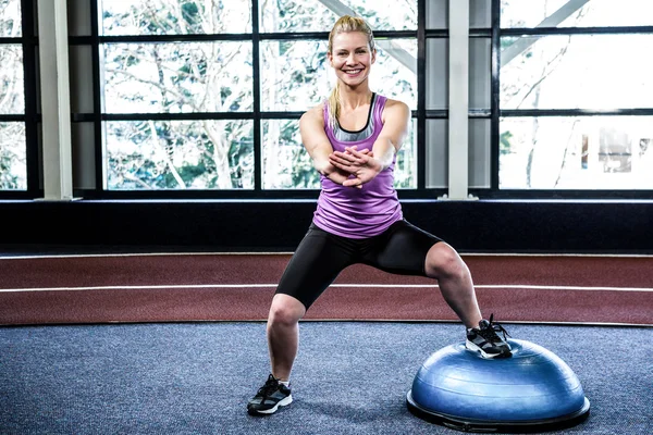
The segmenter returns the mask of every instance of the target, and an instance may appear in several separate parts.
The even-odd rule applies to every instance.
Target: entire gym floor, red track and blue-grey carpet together
[[[1,433],[456,433],[412,415],[430,355],[464,339],[436,283],[347,269],[300,323],[294,403],[251,418],[289,253],[0,258]],[[591,402],[565,433],[653,427],[652,257],[464,254],[485,315],[564,360]],[[247,271],[247,273],[243,273]],[[643,381],[643,382],[642,382]]]

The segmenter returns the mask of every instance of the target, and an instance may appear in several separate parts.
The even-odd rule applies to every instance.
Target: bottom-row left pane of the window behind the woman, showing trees
[[[109,190],[254,186],[250,120],[111,121],[104,132]]]

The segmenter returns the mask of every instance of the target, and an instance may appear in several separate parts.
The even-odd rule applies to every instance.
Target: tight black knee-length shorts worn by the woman
[[[278,294],[293,296],[308,308],[348,265],[362,263],[401,275],[426,276],[427,252],[442,239],[406,221],[378,236],[336,236],[311,224],[283,273]]]

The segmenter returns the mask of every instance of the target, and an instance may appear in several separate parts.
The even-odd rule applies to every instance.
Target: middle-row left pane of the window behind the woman
[[[251,42],[103,46],[106,113],[251,112]]]

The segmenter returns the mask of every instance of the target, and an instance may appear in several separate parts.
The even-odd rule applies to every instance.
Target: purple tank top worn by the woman
[[[381,114],[387,99],[373,95],[368,124],[360,132],[347,132],[340,124],[329,127],[329,104],[324,103],[324,132],[334,151],[358,146],[359,150],[372,149],[383,128]],[[361,189],[343,187],[325,176],[320,176],[322,190],[313,214],[319,228],[348,238],[367,238],[383,233],[390,225],[403,219],[402,206],[394,188],[394,165],[378,174]]]

